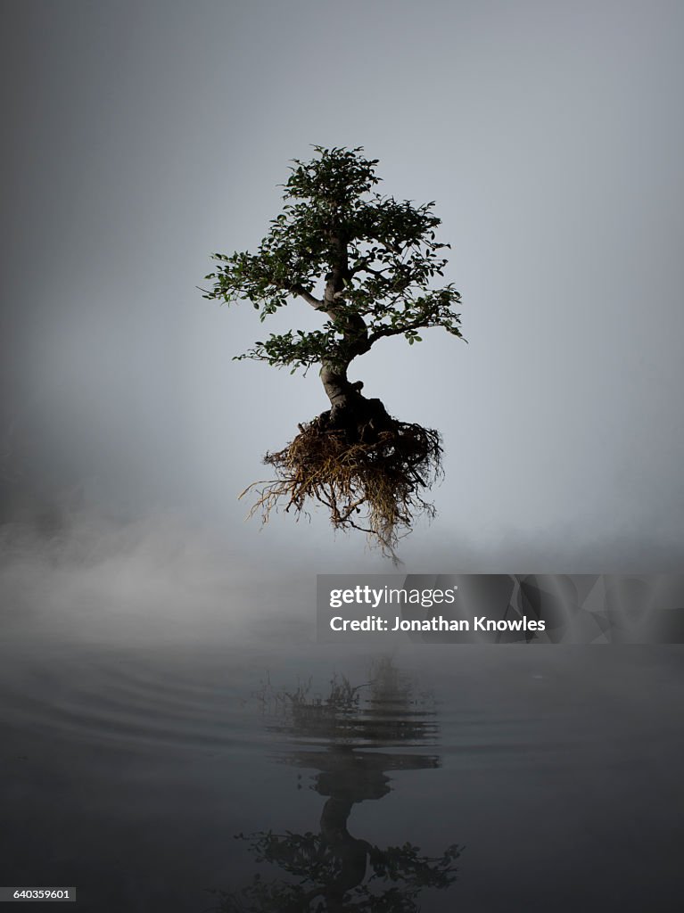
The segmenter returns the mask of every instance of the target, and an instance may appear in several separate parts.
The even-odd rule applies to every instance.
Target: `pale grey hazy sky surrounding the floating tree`
[[[324,518],[242,525],[260,456],[326,402],[314,373],[231,362],[265,330],[195,286],[211,251],[256,246],[289,159],[363,145],[382,190],[437,201],[468,338],[354,366],[445,438],[439,517],[405,556],[681,557],[680,4],[3,10],[5,488],[83,482],[95,507],[211,516],[255,556],[356,561]]]

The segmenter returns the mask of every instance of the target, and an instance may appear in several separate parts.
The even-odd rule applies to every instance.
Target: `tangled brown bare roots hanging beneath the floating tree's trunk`
[[[310,500],[330,510],[335,529],[368,533],[369,540],[396,559],[395,547],[420,514],[434,517],[422,497],[442,474],[442,446],[437,431],[390,419],[371,443],[349,443],[340,430],[325,429],[320,419],[300,425],[285,449],[267,454],[264,463],[277,478],[253,482],[258,493],[249,517],[271,510],[294,509],[299,515]]]

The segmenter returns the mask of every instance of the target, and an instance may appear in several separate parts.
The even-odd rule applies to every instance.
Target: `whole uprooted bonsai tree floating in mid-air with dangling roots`
[[[256,253],[214,254],[216,271],[205,298],[247,300],[260,320],[302,299],[321,315],[321,328],[272,333],[237,359],[256,359],[291,372],[317,366],[330,408],[299,425],[288,446],[264,462],[276,478],[253,483],[252,509],[320,502],[336,528],[369,533],[395,556],[398,538],[417,513],[434,514],[423,492],[441,472],[437,431],[399,421],[379,399],[363,395],[350,366],[375,343],[442,327],[458,338],[460,302],[443,277],[448,245],[437,242],[434,203],[414,205],[374,191],[377,160],[363,148],[314,147],[310,162],[295,159],[282,212]],[[243,492],[245,494],[246,492]]]

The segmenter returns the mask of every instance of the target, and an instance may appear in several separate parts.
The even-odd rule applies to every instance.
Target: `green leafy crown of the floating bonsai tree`
[[[295,297],[321,311],[320,331],[271,335],[238,358],[292,370],[330,359],[348,364],[374,342],[442,327],[461,337],[452,283],[444,276],[449,247],[436,240],[434,203],[414,205],[374,191],[377,160],[363,149],[323,149],[308,163],[295,159],[285,204],[256,253],[215,254],[205,298],[246,300],[260,320]]]

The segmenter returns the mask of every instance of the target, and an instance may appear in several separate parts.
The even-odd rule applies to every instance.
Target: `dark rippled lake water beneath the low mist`
[[[680,647],[388,654],[316,644],[310,579],[240,584],[230,624],[236,589],[51,574],[5,577],[0,884],[105,913],[678,908]]]

